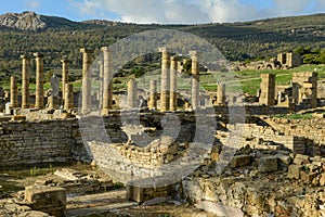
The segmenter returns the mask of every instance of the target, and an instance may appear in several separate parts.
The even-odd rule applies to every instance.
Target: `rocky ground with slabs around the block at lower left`
[[[167,199],[156,200],[148,205],[139,205],[126,199],[126,189],[109,177],[89,165],[55,165],[52,168],[15,168],[0,171],[1,217],[46,217],[44,213],[31,210],[23,202],[24,188],[30,184],[61,186],[67,189],[67,216],[180,216],[210,217],[207,212],[187,203]]]

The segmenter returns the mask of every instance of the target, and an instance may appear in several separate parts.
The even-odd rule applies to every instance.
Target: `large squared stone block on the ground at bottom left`
[[[35,210],[52,216],[66,215],[66,190],[58,187],[29,186],[25,189],[25,201]]]

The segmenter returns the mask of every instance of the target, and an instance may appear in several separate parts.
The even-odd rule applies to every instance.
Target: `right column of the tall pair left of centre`
[[[103,82],[103,110],[105,115],[112,110],[113,102],[113,69],[112,69],[112,53],[108,47],[103,47],[104,53],[104,82]]]

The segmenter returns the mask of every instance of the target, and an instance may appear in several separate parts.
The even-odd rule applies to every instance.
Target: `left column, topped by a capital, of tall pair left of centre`
[[[82,101],[81,113],[86,114],[91,111],[91,54],[92,49],[80,49],[82,53]]]

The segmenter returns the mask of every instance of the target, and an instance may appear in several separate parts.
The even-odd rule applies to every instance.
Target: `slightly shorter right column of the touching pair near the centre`
[[[177,111],[178,60],[170,59],[170,111]]]

